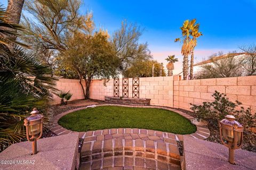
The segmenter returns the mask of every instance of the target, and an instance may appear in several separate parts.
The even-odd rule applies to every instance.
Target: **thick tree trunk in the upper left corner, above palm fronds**
[[[6,9],[6,13],[9,16],[9,21],[11,23],[19,24],[22,7],[24,4],[24,0],[8,0],[8,6]],[[13,29],[10,29],[13,31]],[[17,31],[17,30],[14,30]],[[17,36],[10,37],[13,40],[16,40]]]

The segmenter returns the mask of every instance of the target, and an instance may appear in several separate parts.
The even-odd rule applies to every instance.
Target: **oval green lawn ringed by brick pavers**
[[[58,122],[63,128],[86,132],[112,128],[151,129],[190,134],[196,126],[178,113],[158,108],[98,106],[69,113]]]

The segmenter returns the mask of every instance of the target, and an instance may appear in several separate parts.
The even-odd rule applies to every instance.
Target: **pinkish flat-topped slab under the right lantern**
[[[219,144],[191,137],[184,137],[186,170],[256,169],[256,153],[235,150],[236,165],[228,162],[228,148]]]

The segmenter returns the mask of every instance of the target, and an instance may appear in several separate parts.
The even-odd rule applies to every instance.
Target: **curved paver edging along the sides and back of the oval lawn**
[[[181,116],[187,118],[190,121],[193,120],[193,118],[194,118],[194,117],[192,117],[192,116],[190,116],[190,115],[188,115],[188,114],[186,114],[184,112],[178,111],[177,109],[173,109],[173,108],[169,108],[169,107],[162,107],[162,106],[130,106],[130,105],[118,105],[118,104],[102,104],[102,105],[97,105],[97,107],[98,106],[123,106],[123,107],[140,107],[140,108],[160,108],[160,109],[166,109],[166,110],[178,113],[178,114],[180,114]],[[62,126],[60,126],[58,124],[59,119],[62,116],[65,116],[65,115],[67,115],[69,113],[80,111],[80,110],[85,109],[85,108],[86,107],[72,109],[70,111],[62,112],[62,113],[58,114],[57,116],[55,116],[53,118],[53,120],[52,120],[52,124],[53,125],[52,125],[52,128],[51,128],[51,131],[54,132],[57,135],[72,133],[73,131],[67,130],[67,129],[63,128]],[[195,125],[195,126],[196,126],[196,129],[197,129],[197,131],[195,133],[185,134],[185,135],[189,136],[189,137],[196,138],[196,139],[202,139],[202,140],[205,140],[205,139],[207,139],[210,136],[210,131],[207,128],[207,126],[198,126],[198,125]],[[182,135],[178,135],[178,138],[179,138],[178,140],[183,140]]]

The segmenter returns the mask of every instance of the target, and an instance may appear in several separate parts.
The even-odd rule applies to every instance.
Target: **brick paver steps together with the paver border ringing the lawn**
[[[97,105],[162,108],[178,113],[189,120],[194,117],[172,108],[160,106],[127,106],[127,105]],[[54,117],[53,128],[58,135],[73,133],[58,125],[60,117],[83,108],[63,112]],[[77,133],[77,132],[75,132]],[[197,131],[186,136],[206,139],[210,131],[206,126],[197,126]],[[81,150],[80,169],[102,169],[117,167],[120,169],[180,169],[180,156],[177,141],[183,140],[183,135],[146,129],[105,129],[79,132],[84,139]]]

